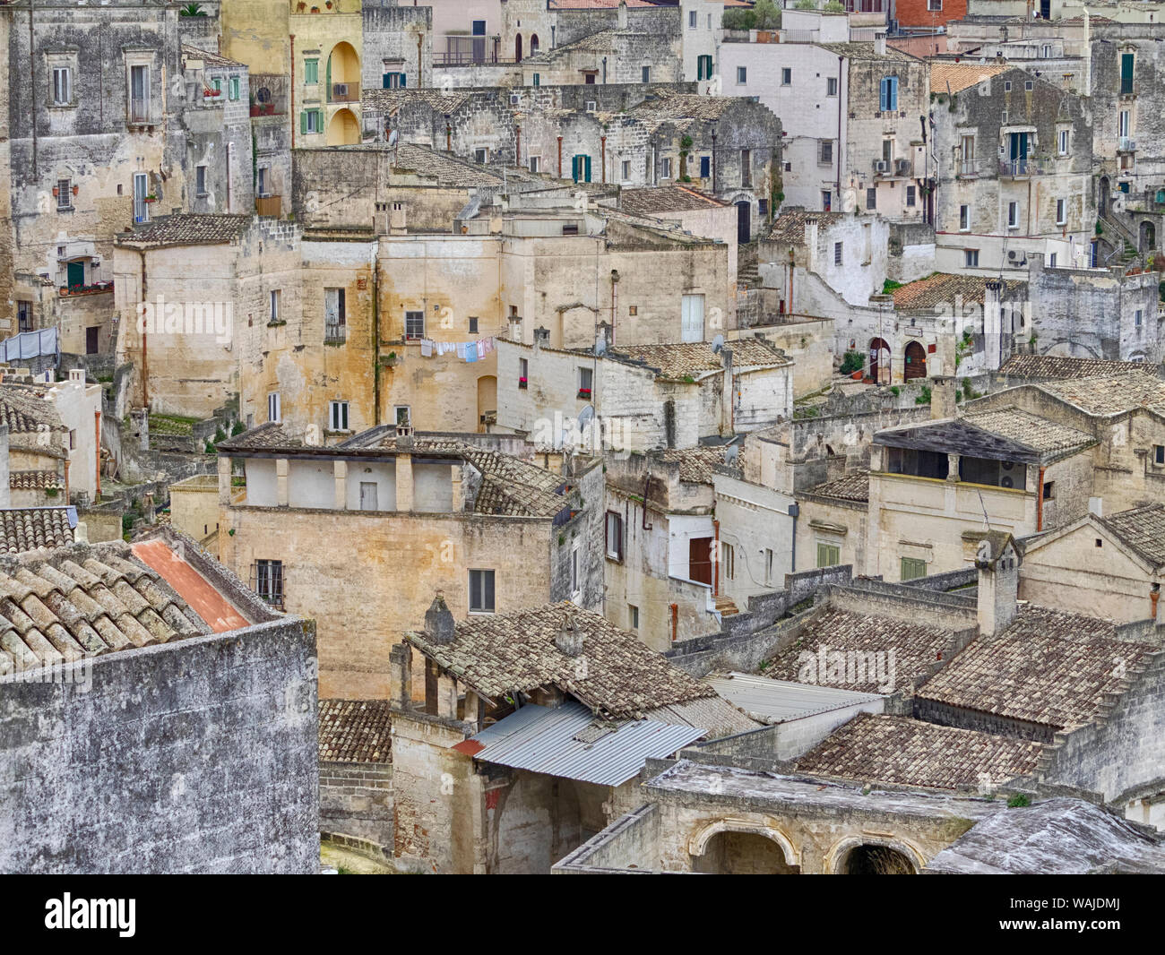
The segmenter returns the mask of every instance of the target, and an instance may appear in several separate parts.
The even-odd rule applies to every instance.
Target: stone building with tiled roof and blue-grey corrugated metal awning
[[[395,857],[548,872],[641,801],[645,758],[756,723],[598,614],[556,603],[454,624],[442,595],[393,651]],[[424,666],[424,706],[409,650]]]

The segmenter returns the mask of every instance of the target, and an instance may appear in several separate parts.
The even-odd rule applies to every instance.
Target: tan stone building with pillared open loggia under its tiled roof
[[[324,699],[387,698],[389,650],[435,588],[458,618],[602,599],[598,460],[553,472],[518,439],[384,426],[326,447],[266,424],[218,448],[220,559],[316,615]]]

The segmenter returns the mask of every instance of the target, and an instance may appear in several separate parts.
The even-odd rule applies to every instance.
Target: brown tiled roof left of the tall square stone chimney
[[[867,667],[867,679],[852,679],[862,675],[856,666],[850,667],[854,672],[835,673],[826,658],[826,666],[819,667],[821,650],[826,655],[863,653],[867,655],[862,658],[866,660],[870,659],[870,653],[884,653],[887,656],[880,659],[885,662],[882,666],[887,671],[888,655],[894,651],[894,689],[902,689],[915,678],[927,674],[930,667],[947,655],[953,636],[951,630],[941,627],[826,607],[807,621],[797,639],[771,657],[761,672],[774,680],[835,686],[859,693],[885,693],[888,688],[884,680],[888,673],[875,674],[871,672],[873,667]],[[853,659],[856,664],[857,657]],[[819,670],[824,672],[818,672]],[[806,674],[812,674],[813,679],[805,679]]]

